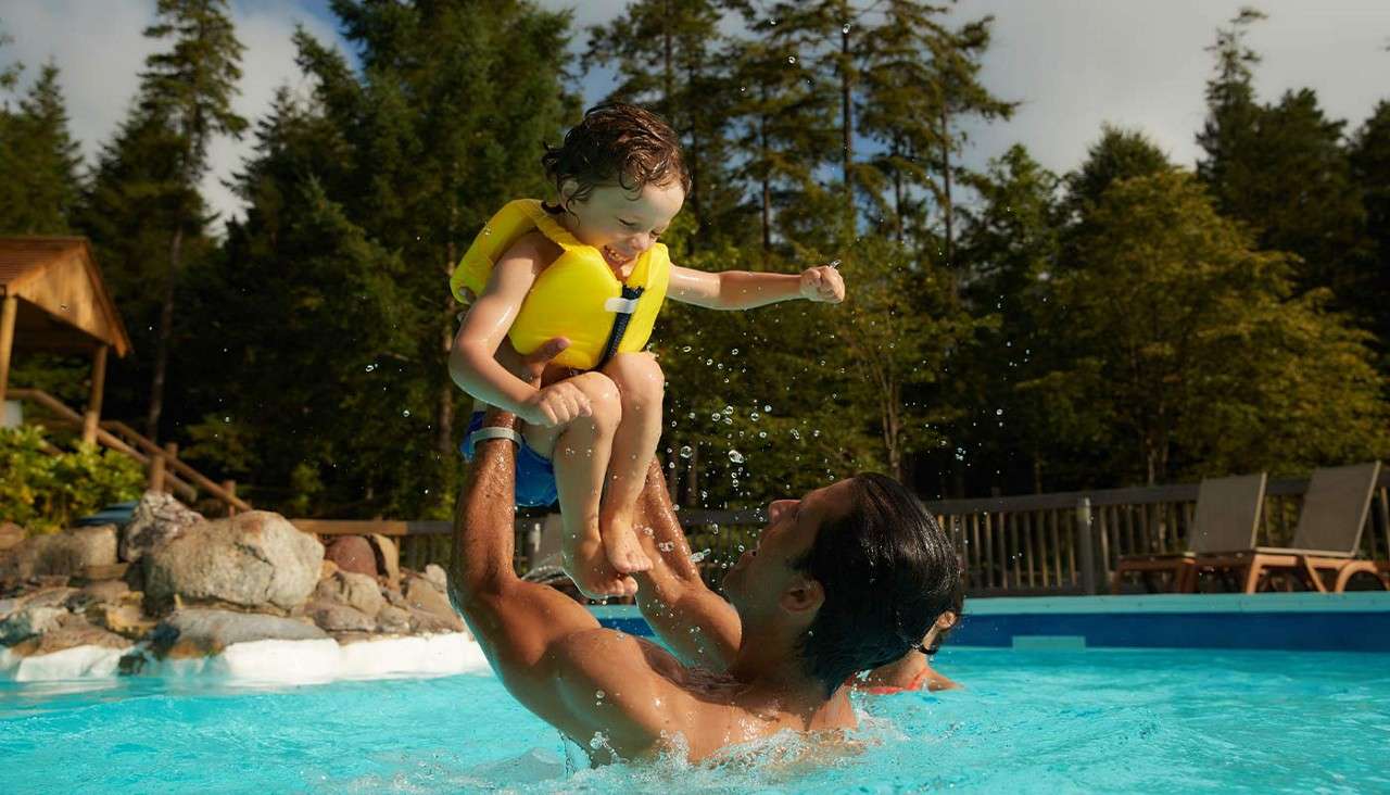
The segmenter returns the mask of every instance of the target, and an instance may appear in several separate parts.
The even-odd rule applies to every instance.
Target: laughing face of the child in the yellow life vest
[[[594,246],[610,267],[620,268],[656,243],[684,203],[678,182],[644,185],[637,193],[602,185],[588,199],[570,202],[566,224],[581,243]]]

